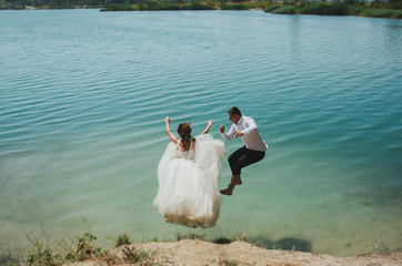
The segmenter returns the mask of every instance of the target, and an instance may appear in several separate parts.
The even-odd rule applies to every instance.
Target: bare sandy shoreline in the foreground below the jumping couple
[[[142,250],[149,258],[133,263],[123,259],[123,248]],[[111,258],[115,258],[112,260]],[[283,252],[264,249],[245,242],[214,244],[200,239],[180,242],[152,242],[134,244],[129,247],[118,247],[109,252],[109,258],[72,263],[66,265],[353,265],[353,266],[400,266],[402,253],[389,255],[363,254],[356,257],[334,257],[301,252]]]

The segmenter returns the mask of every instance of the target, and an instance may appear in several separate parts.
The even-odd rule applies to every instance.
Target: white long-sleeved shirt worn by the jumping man
[[[253,151],[264,152],[268,150],[267,143],[261,139],[255,121],[252,117],[242,115],[238,124],[232,124],[228,133],[221,133],[222,137],[230,141],[234,133],[240,131],[243,133],[241,139],[245,143],[245,147]]]

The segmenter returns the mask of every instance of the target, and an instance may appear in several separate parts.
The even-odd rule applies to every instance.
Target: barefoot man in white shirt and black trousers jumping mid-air
[[[234,186],[241,185],[241,168],[261,161],[265,156],[268,145],[261,139],[257,124],[252,117],[242,115],[238,108],[231,108],[228,111],[229,120],[233,122],[229,132],[224,132],[224,125],[219,127],[222,137],[230,141],[233,135],[241,136],[244,146],[232,153],[228,161],[232,170],[232,180],[227,190],[222,190],[223,195],[232,195]]]

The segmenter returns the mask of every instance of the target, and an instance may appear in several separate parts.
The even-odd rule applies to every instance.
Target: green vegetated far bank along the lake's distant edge
[[[250,10],[275,14],[363,16],[372,18],[402,18],[402,0],[344,0],[343,2],[283,2],[242,0],[0,0],[0,9],[72,9],[100,8],[100,11],[155,10]]]

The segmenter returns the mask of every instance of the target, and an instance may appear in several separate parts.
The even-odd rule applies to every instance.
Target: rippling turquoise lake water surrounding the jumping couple
[[[87,223],[108,247],[247,234],[267,247],[402,250],[402,20],[262,11],[0,11],[0,256]],[[270,145],[209,229],[152,206],[172,127],[227,110]],[[225,142],[228,154],[242,145]],[[229,183],[225,155],[221,187]]]

